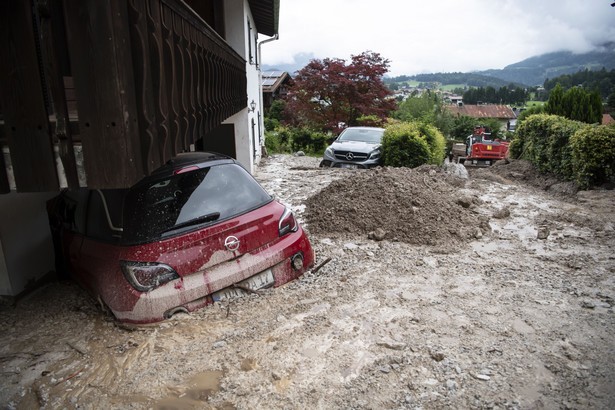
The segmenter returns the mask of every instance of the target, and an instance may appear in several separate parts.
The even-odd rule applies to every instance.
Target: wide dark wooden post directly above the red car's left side
[[[64,7],[89,188],[125,188],[146,175],[124,0]]]

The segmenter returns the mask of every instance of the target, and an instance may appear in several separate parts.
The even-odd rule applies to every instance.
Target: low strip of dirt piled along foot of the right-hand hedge
[[[523,183],[564,197],[572,197],[579,190],[576,183],[564,181],[553,174],[540,173],[534,164],[524,160],[498,161],[489,168],[472,169],[470,172],[473,178],[499,183]]]

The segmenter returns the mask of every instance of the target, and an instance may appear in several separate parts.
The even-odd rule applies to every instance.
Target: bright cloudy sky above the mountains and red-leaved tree
[[[364,51],[388,76],[501,69],[554,51],[615,41],[613,0],[280,0],[279,40],[266,67]],[[259,37],[259,41],[267,37]]]

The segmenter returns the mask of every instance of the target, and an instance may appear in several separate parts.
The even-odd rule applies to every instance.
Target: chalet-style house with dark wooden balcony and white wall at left
[[[36,5],[36,7],[34,7]],[[46,201],[212,150],[253,171],[279,0],[0,2],[0,296],[54,269]]]

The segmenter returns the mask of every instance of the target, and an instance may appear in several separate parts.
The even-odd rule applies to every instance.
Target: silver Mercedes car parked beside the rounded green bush
[[[348,127],[325,151],[321,167],[372,168],[380,165],[384,128]]]

